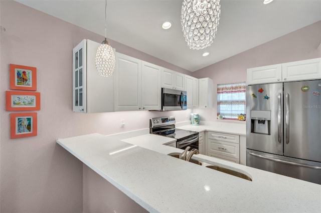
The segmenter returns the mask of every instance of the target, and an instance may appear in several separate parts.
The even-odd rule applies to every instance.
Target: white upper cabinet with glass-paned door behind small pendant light
[[[99,45],[84,39],[73,48],[73,111],[114,111],[114,76],[100,76],[95,64]]]

